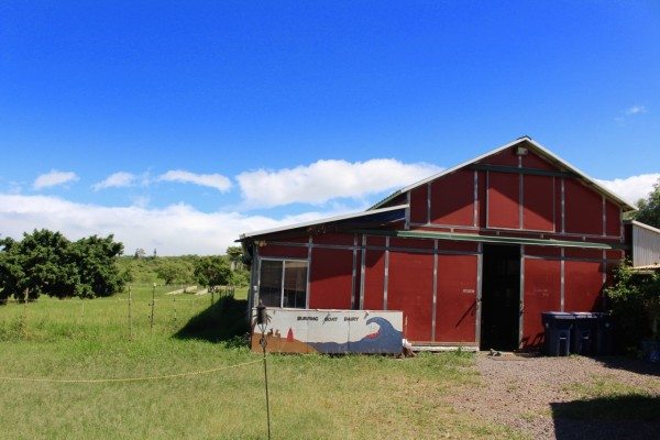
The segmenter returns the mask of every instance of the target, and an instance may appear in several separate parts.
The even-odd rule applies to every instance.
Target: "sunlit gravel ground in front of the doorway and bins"
[[[451,397],[457,409],[507,425],[534,439],[660,439],[660,414],[653,421],[554,418],[552,408],[580,400],[574,384],[605,378],[622,387],[646,389],[660,398],[660,365],[636,360],[582,356],[522,358],[476,355],[483,385]]]

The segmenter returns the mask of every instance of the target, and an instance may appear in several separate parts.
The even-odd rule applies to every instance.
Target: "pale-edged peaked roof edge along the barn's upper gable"
[[[613,200],[616,200],[619,205],[622,205],[627,211],[634,211],[637,208],[635,208],[630,202],[626,201],[625,199],[623,199],[622,197],[617,196],[616,194],[612,193],[609,189],[605,188],[604,186],[602,186],[601,184],[598,184],[597,180],[595,180],[594,178],[590,177],[586,173],[582,172],[581,169],[574,167],[573,165],[569,164],[566,161],[564,161],[563,158],[559,157],[557,154],[550,152],[548,148],[546,148],[544,146],[542,146],[541,144],[539,144],[538,142],[536,142],[535,140],[532,140],[529,136],[522,136],[522,138],[518,138],[513,142],[509,142],[505,145],[498,146],[495,150],[492,150],[487,153],[484,153],[480,156],[476,156],[468,162],[463,162],[460,165],[457,165],[454,167],[444,169],[440,173],[437,173],[430,177],[427,177],[425,179],[421,179],[413,185],[409,185],[405,188],[402,188],[395,193],[393,193],[392,195],[389,195],[388,197],[386,197],[385,199],[378,201],[376,205],[374,205],[373,207],[371,207],[370,209],[377,209],[378,207],[383,206],[384,204],[386,204],[387,201],[392,200],[394,197],[407,193],[410,189],[415,189],[421,185],[428,184],[431,180],[435,180],[439,177],[446,176],[448,174],[451,174],[453,172],[457,172],[468,165],[471,165],[475,162],[479,162],[483,158],[486,158],[493,154],[499,153],[503,150],[509,148],[516,144],[519,144],[521,142],[527,142],[529,143],[529,145],[532,147],[532,150],[535,150],[537,153],[540,153],[542,156],[546,156],[546,158],[549,158],[550,161],[553,161],[558,164],[560,164],[561,166],[563,166],[564,168],[575,173],[578,176],[580,176],[583,180],[585,180],[586,183],[588,183],[591,186],[594,187],[594,189],[596,189],[597,191],[606,195],[607,197],[609,197]]]

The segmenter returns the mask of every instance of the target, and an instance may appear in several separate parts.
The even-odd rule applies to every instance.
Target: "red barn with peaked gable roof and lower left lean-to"
[[[532,349],[542,311],[603,308],[632,209],[525,136],[364,212],[243,234],[249,302],[402,310],[419,348]]]

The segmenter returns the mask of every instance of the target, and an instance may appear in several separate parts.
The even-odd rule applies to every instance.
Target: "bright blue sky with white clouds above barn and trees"
[[[221,252],[524,134],[636,199],[659,53],[651,1],[2,2],[0,233]]]

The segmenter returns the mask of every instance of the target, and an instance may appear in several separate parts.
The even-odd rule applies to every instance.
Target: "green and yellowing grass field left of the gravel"
[[[43,299],[0,307],[0,376],[116,378],[166,375],[258,361],[235,340],[215,342],[194,322],[210,297],[134,286],[128,301]],[[243,296],[238,292],[237,296]],[[205,315],[206,314],[206,315]],[[209,318],[211,317],[211,318]],[[516,438],[454,411],[444,397],[476,386],[469,354],[268,358],[275,439]],[[264,439],[263,365],[129,383],[0,381],[7,439]]]

